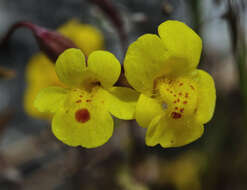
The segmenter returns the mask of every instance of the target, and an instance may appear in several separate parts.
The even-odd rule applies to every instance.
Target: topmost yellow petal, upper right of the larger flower
[[[202,40],[186,24],[179,21],[166,21],[158,27],[159,35],[169,51],[171,67],[177,74],[195,69],[199,63]]]

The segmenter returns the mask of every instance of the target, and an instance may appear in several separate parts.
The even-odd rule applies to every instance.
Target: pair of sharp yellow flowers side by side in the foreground
[[[113,133],[111,115],[147,128],[148,146],[182,146],[202,135],[216,99],[212,77],[197,69],[202,41],[179,21],[162,23],[158,33],[141,36],[127,50],[123,66],[133,89],[114,86],[121,65],[107,51],[85,57],[80,49],[67,49],[59,56],[61,87],[41,90],[34,101],[40,112],[54,114],[52,131],[59,140],[103,145]]]

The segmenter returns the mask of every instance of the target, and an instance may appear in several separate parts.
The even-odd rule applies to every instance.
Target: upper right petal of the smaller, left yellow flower
[[[105,88],[111,87],[119,78],[121,65],[117,58],[107,51],[94,51],[88,57],[88,70]]]

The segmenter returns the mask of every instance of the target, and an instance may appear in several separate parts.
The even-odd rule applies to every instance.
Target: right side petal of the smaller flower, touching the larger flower
[[[134,119],[136,102],[139,93],[125,87],[112,87],[108,91],[102,89],[107,110],[116,118]]]

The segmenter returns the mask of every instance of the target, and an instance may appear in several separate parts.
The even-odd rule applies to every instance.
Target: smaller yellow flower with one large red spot
[[[60,81],[70,88],[48,87],[35,99],[41,112],[51,112],[54,135],[70,146],[94,148],[108,141],[114,115],[133,119],[138,93],[113,87],[121,65],[107,51],[92,52],[87,61],[79,49],[68,49],[56,61]]]

